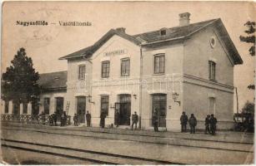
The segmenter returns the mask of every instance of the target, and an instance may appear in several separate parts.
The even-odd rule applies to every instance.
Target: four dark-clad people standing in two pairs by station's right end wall
[[[195,128],[198,124],[198,121],[196,117],[191,114],[189,119],[186,113],[183,111],[183,114],[180,116],[180,125],[181,125],[181,132],[187,132],[187,124],[189,124],[190,127],[190,134],[195,134]],[[214,117],[214,115],[207,115],[205,118],[205,130],[204,134],[215,134],[216,132],[216,124],[217,119]]]

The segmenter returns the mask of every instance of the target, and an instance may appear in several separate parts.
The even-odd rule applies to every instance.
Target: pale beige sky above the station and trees
[[[253,101],[254,57],[248,43],[239,41],[248,20],[255,21],[253,2],[3,2],[2,72],[24,47],[39,73],[66,71],[67,61],[58,60],[91,46],[111,28],[125,27],[130,35],[178,26],[178,14],[190,12],[190,22],[221,18],[243,65],[234,66],[239,110]],[[45,21],[48,26],[17,25],[17,21]],[[90,27],[62,27],[58,22],[91,22]],[[236,102],[234,100],[234,108]]]

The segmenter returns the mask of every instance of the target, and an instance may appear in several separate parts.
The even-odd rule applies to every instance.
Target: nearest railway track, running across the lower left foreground
[[[63,146],[36,144],[13,139],[1,139],[1,145],[9,149],[25,150],[33,153],[50,154],[68,159],[89,161],[93,164],[181,164],[158,159],[145,159],[122,154],[110,154],[85,149],[73,149]]]

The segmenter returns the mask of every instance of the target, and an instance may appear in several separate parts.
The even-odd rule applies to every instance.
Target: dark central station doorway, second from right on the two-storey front
[[[119,95],[120,115],[119,125],[130,125],[131,95]]]

